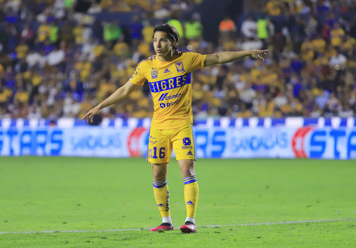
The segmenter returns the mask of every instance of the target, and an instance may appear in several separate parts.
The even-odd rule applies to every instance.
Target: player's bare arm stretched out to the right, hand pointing
[[[216,54],[208,54],[206,55],[206,59],[204,61],[204,67],[214,65],[214,64],[225,64],[230,63],[232,61],[244,58],[246,56],[251,56],[256,59],[260,59],[265,61],[262,58],[262,54],[267,56],[269,50],[249,50],[249,51],[240,51],[240,52],[223,52]]]

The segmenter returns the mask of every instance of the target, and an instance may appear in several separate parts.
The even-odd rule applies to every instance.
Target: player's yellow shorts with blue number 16
[[[169,163],[171,162],[173,148],[177,160],[195,160],[192,123],[169,130],[150,128],[146,161],[154,164]]]

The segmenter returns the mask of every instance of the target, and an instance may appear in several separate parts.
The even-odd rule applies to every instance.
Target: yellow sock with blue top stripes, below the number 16
[[[171,210],[169,210],[169,190],[167,185],[167,179],[164,181],[153,180],[153,194],[155,195],[155,199],[159,212],[161,212],[161,216],[170,216]]]

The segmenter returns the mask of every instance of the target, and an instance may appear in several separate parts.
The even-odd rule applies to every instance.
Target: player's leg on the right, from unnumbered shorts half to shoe
[[[199,186],[195,176],[195,142],[192,125],[190,123],[177,129],[173,139],[173,148],[182,173],[184,183],[184,201],[187,207],[185,224],[180,227],[182,232],[196,232],[195,212],[199,197]]]

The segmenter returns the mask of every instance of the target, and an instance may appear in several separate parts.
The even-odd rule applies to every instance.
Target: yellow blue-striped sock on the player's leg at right
[[[187,217],[195,218],[199,196],[197,176],[191,175],[182,179],[184,183],[184,201],[187,207]]]

